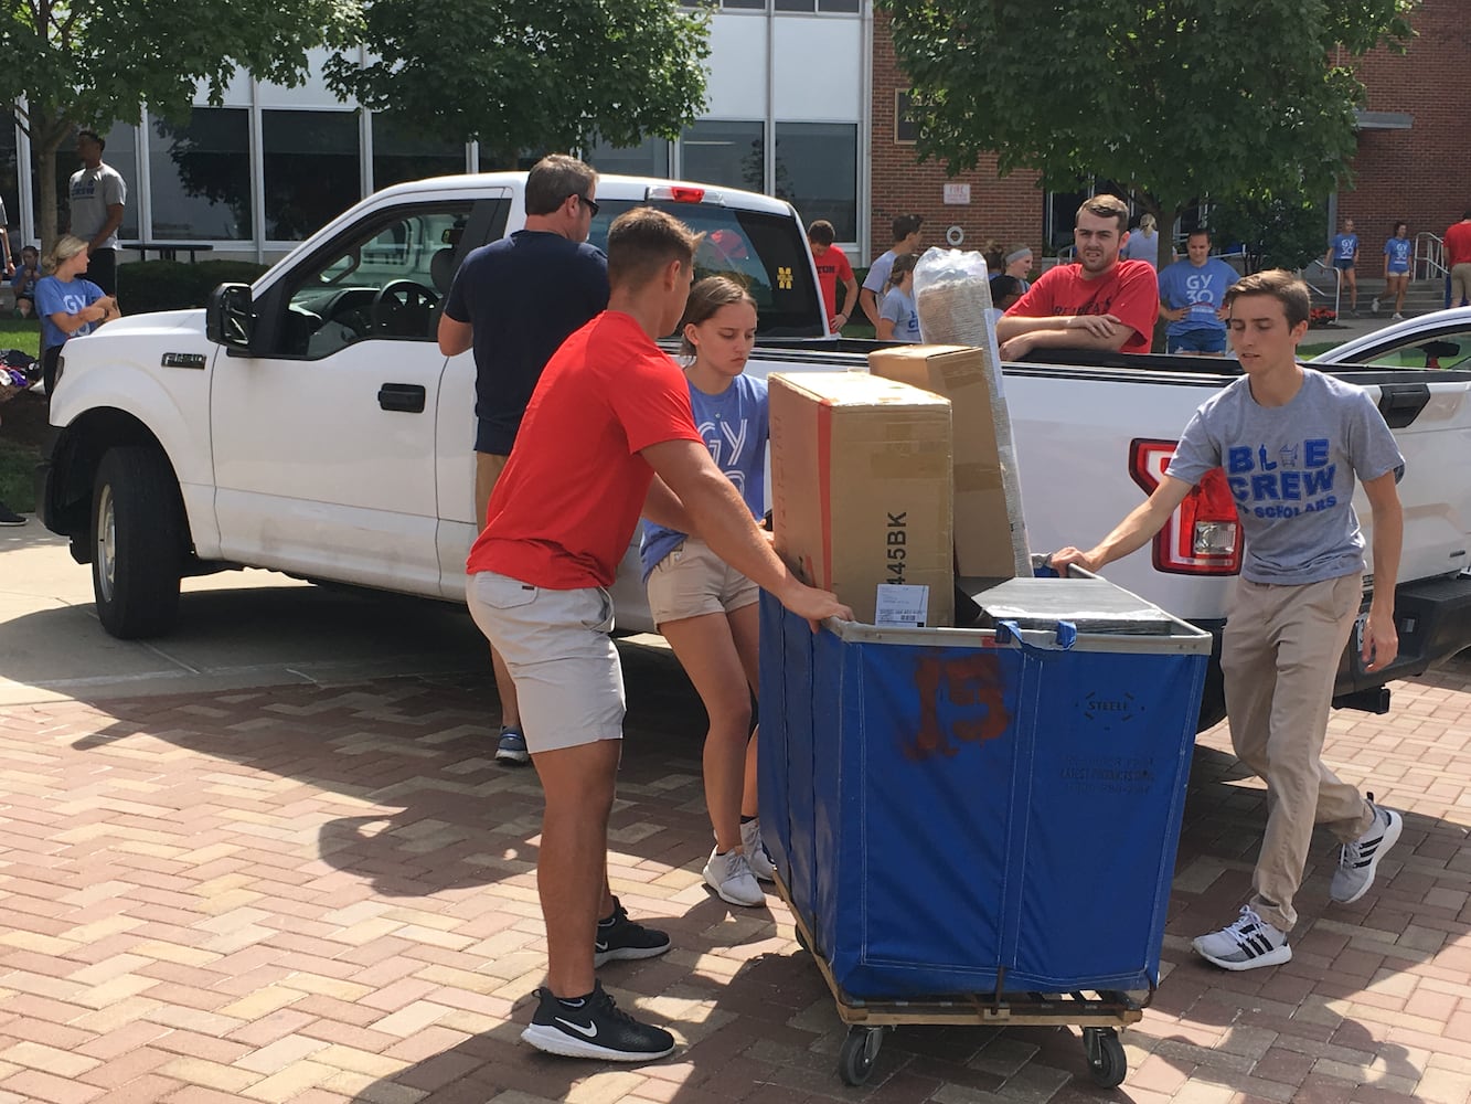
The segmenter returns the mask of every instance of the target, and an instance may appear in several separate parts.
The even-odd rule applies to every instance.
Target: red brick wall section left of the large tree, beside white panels
[[[944,247],[944,231],[958,225],[965,231],[961,249],[981,249],[987,238],[996,238],[1006,250],[1025,241],[1040,258],[1043,193],[1036,187],[1037,174],[1014,172],[1005,180],[997,180],[994,156],[981,158],[974,171],[959,177],[946,175],[944,165],[938,162],[916,165],[915,147],[894,141],[894,91],[908,87],[909,81],[894,65],[888,16],[875,13],[874,138],[869,178],[872,255],[878,256],[888,249],[893,237],[890,222],[894,215],[916,213],[924,216],[927,246]],[[947,183],[971,185],[968,206],[944,203]]]

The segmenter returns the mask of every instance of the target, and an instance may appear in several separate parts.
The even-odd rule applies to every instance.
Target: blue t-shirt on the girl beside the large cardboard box
[[[715,465],[736,484],[750,515],[762,517],[766,512],[766,439],[771,436],[766,381],[737,375],[719,394],[706,394],[691,383],[690,412]],[[638,548],[644,581],[685,536],[644,521],[643,543]]]

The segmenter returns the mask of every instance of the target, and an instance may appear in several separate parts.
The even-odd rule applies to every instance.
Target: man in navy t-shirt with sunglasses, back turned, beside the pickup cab
[[[471,252],[440,315],[440,352],[475,350],[475,526],[552,353],[608,306],[608,258],[587,244],[597,174],[553,153],[527,175],[527,227]],[[496,760],[528,762],[516,684],[491,649],[500,695]]]

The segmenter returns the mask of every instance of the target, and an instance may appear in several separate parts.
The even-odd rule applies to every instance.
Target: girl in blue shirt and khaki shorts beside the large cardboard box
[[[680,325],[690,411],[715,462],[766,512],[766,381],[744,375],[756,344],[756,302],[740,284],[708,277],[690,290]],[[734,905],[765,904],[756,879],[772,880],[756,818],[756,692],[761,592],[696,536],[644,523],[641,546],[649,611],[705,702],[705,805],[715,849],[705,882]]]

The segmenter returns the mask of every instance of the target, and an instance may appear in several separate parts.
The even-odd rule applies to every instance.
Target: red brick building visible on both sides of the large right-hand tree
[[[1370,258],[1377,256],[1381,237],[1393,233],[1395,221],[1406,219],[1412,236],[1421,231],[1439,236],[1471,206],[1471,180],[1465,172],[1471,166],[1467,0],[1424,0],[1414,25],[1418,38],[1408,53],[1375,50],[1358,62],[1368,96],[1361,113],[1355,180],[1339,196],[1327,197],[1325,221],[1334,216],[1334,209],[1352,216]],[[1037,175],[1014,172],[997,178],[994,158],[955,178],[946,175],[943,163],[916,163],[912,135],[906,134],[896,106],[906,87],[908,79],[894,62],[888,19],[875,13],[868,227],[872,252],[887,244],[894,215],[916,212],[925,218],[928,244],[943,244],[946,228],[958,227],[966,249],[996,238],[1006,247],[1025,241],[1039,256],[1050,253],[1046,238],[1056,244],[1069,228],[1064,208],[1074,202],[1059,202],[1053,218]],[[946,203],[946,184],[969,185],[969,202]],[[959,196],[952,191],[950,199]],[[1325,225],[1325,244],[1327,237]]]

